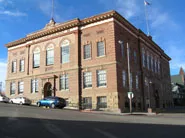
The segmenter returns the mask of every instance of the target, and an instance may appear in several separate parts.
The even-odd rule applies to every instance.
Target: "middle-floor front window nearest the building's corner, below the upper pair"
[[[97,71],[97,85],[98,85],[98,87],[107,85],[107,77],[106,77],[105,70],[98,70]]]

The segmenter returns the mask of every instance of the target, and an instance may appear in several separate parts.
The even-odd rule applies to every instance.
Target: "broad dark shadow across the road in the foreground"
[[[0,138],[174,138],[185,126],[0,117]]]

